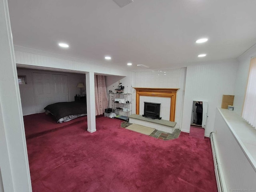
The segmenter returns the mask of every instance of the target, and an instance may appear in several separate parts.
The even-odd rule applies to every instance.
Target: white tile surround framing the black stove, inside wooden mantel
[[[160,103],[160,117],[170,120],[171,98],[140,96],[140,115],[144,114],[144,102]]]

